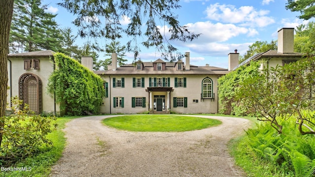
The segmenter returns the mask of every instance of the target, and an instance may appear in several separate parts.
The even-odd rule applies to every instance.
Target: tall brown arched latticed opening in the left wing
[[[25,73],[19,80],[20,99],[23,100],[22,107],[29,105],[31,111],[40,114],[42,111],[42,84],[38,76]]]

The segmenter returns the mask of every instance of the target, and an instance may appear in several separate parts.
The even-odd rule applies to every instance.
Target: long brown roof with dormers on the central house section
[[[163,61],[165,62],[165,61]],[[213,66],[194,66],[190,65],[190,70],[177,70],[174,62],[165,62],[165,70],[155,71],[153,68],[153,62],[143,62],[143,69],[136,70],[133,64],[126,64],[124,66],[118,67],[115,71],[105,70],[105,71],[94,71],[95,74],[99,75],[124,75],[124,74],[134,74],[134,75],[146,75],[146,74],[159,74],[159,75],[170,75],[170,74],[185,74],[185,75],[198,75],[198,74],[209,74],[209,75],[224,75],[229,71],[225,68],[213,67]]]

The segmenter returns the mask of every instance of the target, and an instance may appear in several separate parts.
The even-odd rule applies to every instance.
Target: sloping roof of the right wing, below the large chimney
[[[246,59],[245,61],[243,61],[241,64],[237,65],[234,69],[243,66],[245,64],[248,64],[250,61],[255,61],[258,59],[262,59],[262,58],[276,58],[276,57],[282,57],[282,58],[287,58],[287,57],[293,57],[293,58],[301,58],[303,57],[305,54],[302,53],[280,53],[276,50],[268,50],[266,52],[262,52],[262,53],[258,53],[253,55],[252,57],[250,57],[249,59]],[[233,69],[233,70],[234,70]]]

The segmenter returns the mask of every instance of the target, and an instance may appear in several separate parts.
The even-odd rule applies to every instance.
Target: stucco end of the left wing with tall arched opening
[[[8,55],[7,102],[17,96],[37,114],[59,113],[60,106],[47,93],[48,79],[54,71],[53,51],[36,51]]]

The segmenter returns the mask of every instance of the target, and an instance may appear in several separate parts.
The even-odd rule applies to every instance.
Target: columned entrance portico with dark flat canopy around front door
[[[171,105],[171,87],[149,87],[149,111],[153,113],[170,113]]]

